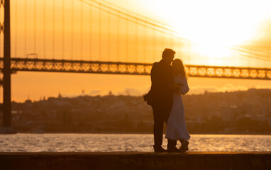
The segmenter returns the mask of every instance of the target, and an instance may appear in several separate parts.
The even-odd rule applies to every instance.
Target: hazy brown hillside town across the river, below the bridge
[[[183,96],[190,133],[271,134],[271,90]],[[1,114],[0,114],[1,115]],[[0,123],[2,122],[0,116]],[[153,113],[142,96],[77,96],[12,102],[17,132],[151,133]]]

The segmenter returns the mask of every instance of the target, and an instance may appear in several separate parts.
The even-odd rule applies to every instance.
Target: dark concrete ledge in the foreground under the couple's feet
[[[271,152],[0,152],[0,169],[271,169]]]

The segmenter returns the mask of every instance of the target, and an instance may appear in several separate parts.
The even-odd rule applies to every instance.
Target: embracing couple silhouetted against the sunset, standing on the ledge
[[[155,62],[150,72],[152,86],[145,101],[153,108],[153,148],[155,152],[186,152],[190,138],[184,118],[182,94],[187,94],[189,87],[182,60],[174,59],[175,51],[166,48],[162,60]],[[172,65],[171,65],[172,63]],[[167,123],[165,138],[167,150],[162,148],[164,122]],[[182,143],[179,149],[177,141]]]

